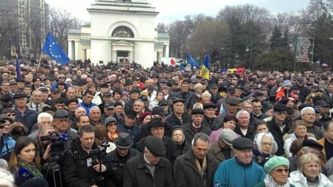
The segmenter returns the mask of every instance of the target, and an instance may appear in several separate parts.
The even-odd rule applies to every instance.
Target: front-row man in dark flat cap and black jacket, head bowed
[[[165,154],[161,138],[148,136],[144,153],[126,163],[123,187],[174,187],[172,166]]]

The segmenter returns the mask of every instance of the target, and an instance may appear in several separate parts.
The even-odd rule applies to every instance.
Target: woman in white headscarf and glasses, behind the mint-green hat
[[[274,138],[270,132],[261,132],[254,136],[252,161],[263,166],[272,158]]]

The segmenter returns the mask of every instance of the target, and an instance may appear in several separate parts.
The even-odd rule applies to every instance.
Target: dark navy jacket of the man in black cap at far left
[[[37,112],[29,109],[28,107],[25,107],[24,114],[21,114],[18,111],[17,107],[14,107],[14,112],[16,115],[15,122],[20,122],[25,125],[28,128],[28,131],[26,133],[30,134],[32,126],[37,123]]]

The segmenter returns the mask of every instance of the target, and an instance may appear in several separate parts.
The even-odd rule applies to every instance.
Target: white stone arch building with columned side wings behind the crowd
[[[137,62],[153,66],[169,57],[170,37],[155,29],[155,7],[148,0],[95,0],[87,9],[91,26],[70,29],[68,56],[92,63]]]

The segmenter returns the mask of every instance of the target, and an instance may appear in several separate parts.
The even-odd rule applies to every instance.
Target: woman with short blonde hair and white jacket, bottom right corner
[[[304,154],[298,159],[298,170],[291,172],[288,180],[295,187],[333,187],[333,183],[321,172],[318,156]]]

